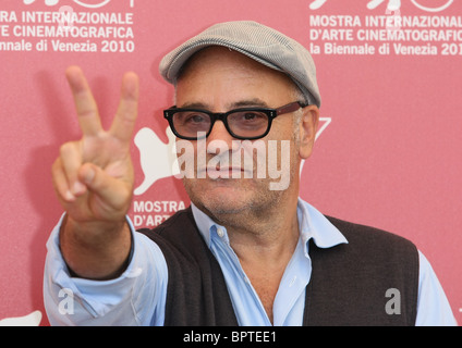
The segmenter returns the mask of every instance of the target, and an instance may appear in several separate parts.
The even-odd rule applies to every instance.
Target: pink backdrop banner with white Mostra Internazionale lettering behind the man
[[[1,0],[0,320],[48,325],[45,245],[62,214],[50,167],[60,145],[81,137],[65,69],[83,67],[106,127],[122,74],[139,75],[130,216],[154,227],[190,203],[171,165],[161,111],[173,89],[159,62],[211,24],[238,20],[293,37],[316,62],[321,122],[301,197],[413,240],[462,322],[462,3],[453,0]]]

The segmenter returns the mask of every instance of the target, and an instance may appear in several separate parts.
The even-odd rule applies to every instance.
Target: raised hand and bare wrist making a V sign
[[[101,277],[117,271],[117,264],[123,263],[130,249],[125,214],[134,183],[130,145],[137,115],[138,78],[134,73],[124,74],[119,108],[110,129],[105,130],[82,70],[71,66],[66,70],[66,77],[83,137],[62,145],[52,166],[53,186],[66,212],[61,248],[74,271],[87,277]],[[119,237],[123,243],[118,240]],[[122,261],[115,260],[118,252],[111,248],[121,251]],[[96,265],[81,264],[76,260],[88,252],[96,260],[85,256],[85,262],[96,262]],[[105,262],[115,264],[101,272],[95,269]],[[87,268],[94,273],[88,274]]]

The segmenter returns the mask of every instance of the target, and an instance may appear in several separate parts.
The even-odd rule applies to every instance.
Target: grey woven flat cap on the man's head
[[[285,35],[256,22],[216,24],[167,54],[160,62],[163,78],[174,84],[183,64],[199,50],[224,46],[255,61],[288,74],[305,96],[305,102],[320,107],[316,66],[308,50]]]

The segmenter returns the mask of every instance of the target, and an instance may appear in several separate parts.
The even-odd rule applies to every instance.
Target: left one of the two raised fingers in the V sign
[[[101,121],[98,114],[98,107],[82,69],[70,66],[65,71],[65,76],[74,97],[78,124],[83,134],[97,135],[102,130]]]

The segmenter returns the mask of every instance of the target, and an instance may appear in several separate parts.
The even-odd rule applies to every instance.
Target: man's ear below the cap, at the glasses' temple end
[[[316,105],[307,105],[303,109],[300,121],[300,148],[299,154],[302,160],[306,160],[313,152],[316,132],[319,124],[319,109]]]

